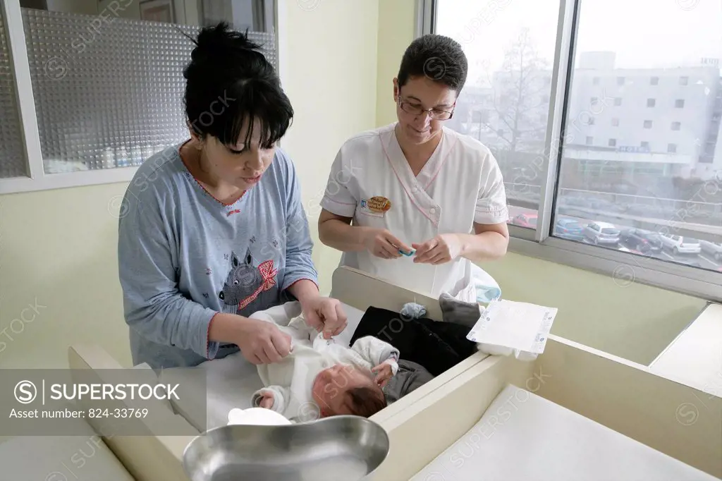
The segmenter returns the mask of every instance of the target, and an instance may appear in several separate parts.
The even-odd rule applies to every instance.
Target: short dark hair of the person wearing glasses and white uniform
[[[444,35],[429,34],[406,48],[399,67],[399,87],[411,77],[428,77],[461,93],[466,84],[469,61],[461,45]]]

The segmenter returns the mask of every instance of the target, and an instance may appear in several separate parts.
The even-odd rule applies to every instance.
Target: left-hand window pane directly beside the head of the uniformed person
[[[559,0],[437,2],[435,32],[461,43],[469,59],[448,126],[492,150],[504,175],[510,223],[531,229],[546,168],[559,7]]]

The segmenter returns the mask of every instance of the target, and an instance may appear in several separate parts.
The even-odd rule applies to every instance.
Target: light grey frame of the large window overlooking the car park
[[[435,17],[438,1],[417,0],[416,37],[435,33]],[[619,286],[632,282],[659,287],[697,298],[722,302],[722,274],[699,269],[671,261],[664,261],[612,248],[578,243],[552,235],[554,207],[557,191],[560,189],[560,161],[562,149],[562,126],[567,116],[567,97],[570,94],[574,76],[575,40],[578,31],[580,2],[582,0],[560,0],[557,38],[552,66],[551,99],[549,121],[544,142],[544,158],[541,166],[539,202],[512,201],[510,205],[536,209],[536,230],[508,225],[510,233],[509,251],[557,264],[584,269],[612,277]],[[656,222],[659,224],[660,222]],[[679,228],[673,220],[667,222],[674,228],[675,235],[697,237],[700,233]],[[653,228],[644,221],[635,221],[634,228]]]

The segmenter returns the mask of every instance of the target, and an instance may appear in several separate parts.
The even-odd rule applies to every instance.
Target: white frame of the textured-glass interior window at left
[[[95,1],[95,0],[94,0]],[[278,0],[258,0],[263,3],[265,27],[276,35],[276,55],[280,58],[278,43]],[[139,166],[80,170],[67,173],[45,173],[43,152],[38,131],[35,110],[35,95],[32,91],[30,62],[27,57],[25,23],[22,20],[20,0],[0,0],[0,12],[4,17],[6,42],[10,52],[11,74],[15,79],[15,95],[23,142],[23,155],[27,175],[0,178],[0,195],[21,192],[47,191],[56,188],[97,186],[109,183],[128,183],[133,180]],[[271,15],[274,14],[273,17]]]

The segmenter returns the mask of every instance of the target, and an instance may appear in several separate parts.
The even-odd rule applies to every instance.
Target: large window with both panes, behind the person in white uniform
[[[434,6],[427,9],[435,12],[430,31],[456,38],[466,51],[465,89],[533,90],[531,82],[521,80],[519,61],[532,76],[541,70],[552,77],[554,90],[544,94],[561,107],[549,111],[546,106],[549,139],[532,136],[535,129],[529,124],[519,129],[521,140],[512,140],[511,119],[529,122],[539,117],[533,103],[524,99],[510,109],[498,109],[507,115],[507,122],[497,127],[506,130],[507,139],[464,122],[454,127],[487,144],[499,162],[511,210],[510,249],[612,277],[623,267],[633,270],[636,282],[722,301],[722,262],[704,254],[684,254],[683,249],[678,253],[671,243],[638,254],[625,237],[635,228],[658,233],[659,238],[669,233],[722,242],[722,186],[705,184],[716,179],[713,165],[722,165],[722,157],[714,157],[722,155],[719,143],[708,142],[712,132],[719,131],[712,118],[721,111],[716,92],[722,79],[717,69],[677,67],[699,64],[700,52],[716,53],[718,45],[710,39],[722,25],[722,13],[699,2],[680,15],[678,2],[656,0],[638,0],[633,10],[627,0],[483,5],[423,1]],[[648,21],[652,12],[658,21]],[[559,25],[557,17],[563,20]],[[619,22],[623,26],[614,36],[598,27]],[[689,87],[700,79],[708,88],[685,89],[682,100],[680,77],[688,77]],[[609,83],[612,89],[602,91],[601,85]],[[659,90],[663,85],[670,88]],[[672,108],[687,108],[685,115],[694,122],[674,121],[680,116],[673,116]],[[597,126],[591,126],[590,116]],[[628,120],[625,129],[620,129],[622,118]],[[681,131],[683,121],[684,136],[664,138],[660,126]],[[547,123],[539,125],[539,130],[546,127]],[[708,156],[718,163],[700,164],[702,152],[711,152]],[[534,222],[513,220],[521,214],[533,216]],[[565,222],[573,222],[574,233],[560,227]]]

